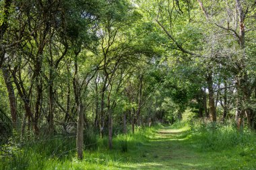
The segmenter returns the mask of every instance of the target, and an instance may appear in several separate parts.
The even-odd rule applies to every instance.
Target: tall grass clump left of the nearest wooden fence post
[[[75,136],[52,136],[42,140],[9,140],[2,146],[0,169],[44,169],[52,160],[71,160],[75,153]]]

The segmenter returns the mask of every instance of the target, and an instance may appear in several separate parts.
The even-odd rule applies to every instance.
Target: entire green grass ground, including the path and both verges
[[[15,154],[1,157],[0,169],[256,169],[255,133],[238,133],[230,124],[139,128],[115,136],[112,151],[106,138],[95,140],[82,161],[69,151],[74,138],[9,148]]]

